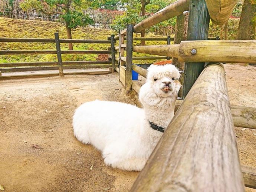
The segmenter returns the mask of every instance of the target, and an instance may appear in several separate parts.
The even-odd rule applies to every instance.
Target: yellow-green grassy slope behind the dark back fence
[[[54,33],[58,31],[60,39],[66,39],[66,29],[60,23],[45,21],[28,21],[18,19],[8,19],[0,17],[0,37],[16,38],[54,38]],[[106,40],[113,33],[111,30],[97,29],[92,27],[78,28],[72,30],[73,39],[103,39]],[[155,35],[150,35],[155,36]],[[139,41],[134,44],[140,44]],[[146,44],[166,44],[166,42],[146,42]],[[74,50],[108,50],[110,44],[73,44]],[[0,43],[0,50],[55,50],[55,43]],[[68,44],[61,44],[62,50],[68,50]],[[137,54],[134,56],[146,56],[147,54]],[[63,54],[63,61],[96,60],[97,54]],[[9,62],[39,62],[56,61],[55,54],[32,54],[32,55],[6,55],[0,56],[0,63]],[[148,63],[151,61],[136,61],[136,63]]]

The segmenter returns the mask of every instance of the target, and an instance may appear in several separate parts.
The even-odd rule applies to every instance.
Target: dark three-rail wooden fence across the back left
[[[77,65],[100,65],[103,64],[112,64],[112,69],[115,69],[115,39],[114,35],[110,37],[109,40],[85,40],[85,39],[59,39],[59,34],[55,33],[55,39],[27,39],[27,38],[0,38],[0,42],[20,42],[20,43],[55,43],[56,50],[1,50],[0,55],[13,55],[13,54],[56,54],[58,62],[22,62],[22,63],[0,63],[0,67],[23,67],[24,70],[29,70],[31,66],[40,66],[32,67],[32,69],[56,69],[49,66],[58,66],[59,73],[58,75],[63,76],[63,65],[66,68],[78,68]],[[111,44],[109,50],[61,50],[60,43],[104,43]],[[111,54],[111,58],[106,61],[62,61],[62,54]],[[72,66],[76,65],[76,66]],[[44,67],[42,67],[44,66]],[[47,67],[46,67],[47,66]],[[70,67],[72,66],[72,67]],[[27,68],[26,68],[27,67]],[[19,68],[15,68],[19,69]],[[1,68],[0,71],[15,70],[14,68]],[[84,73],[84,72],[83,72]],[[1,74],[1,73],[0,73]],[[52,73],[51,73],[52,74]],[[94,74],[94,73],[93,73]],[[43,75],[50,75],[44,73]]]

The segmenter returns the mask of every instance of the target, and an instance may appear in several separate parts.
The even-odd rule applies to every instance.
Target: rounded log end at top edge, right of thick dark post
[[[223,25],[228,20],[237,0],[206,0],[211,21],[217,25]]]

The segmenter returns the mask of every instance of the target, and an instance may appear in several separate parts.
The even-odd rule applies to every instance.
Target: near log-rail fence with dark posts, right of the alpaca
[[[119,50],[116,71],[127,93],[140,90],[140,85],[132,81],[132,70],[143,77],[147,75],[147,70],[132,63],[132,52],[186,62],[184,101],[177,103],[179,107],[172,122],[131,191],[244,191],[244,185],[256,188],[256,169],[240,165],[233,130],[234,126],[256,129],[256,109],[230,107],[224,67],[219,63],[255,62],[256,41],[207,40],[209,13],[216,24],[225,23],[232,13],[233,4],[227,3],[226,9],[221,7],[214,15],[219,6],[211,0],[178,0],[135,26],[128,24],[127,29],[115,36],[119,39],[119,47],[115,48]],[[188,41],[133,46],[133,33],[187,10]],[[247,118],[244,112],[252,118]]]

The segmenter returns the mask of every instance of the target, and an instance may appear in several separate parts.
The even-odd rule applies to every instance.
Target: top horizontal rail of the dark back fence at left
[[[33,39],[33,38],[0,38],[0,42],[17,43],[55,43],[55,39]],[[111,43],[110,40],[94,39],[60,39],[60,43]]]

